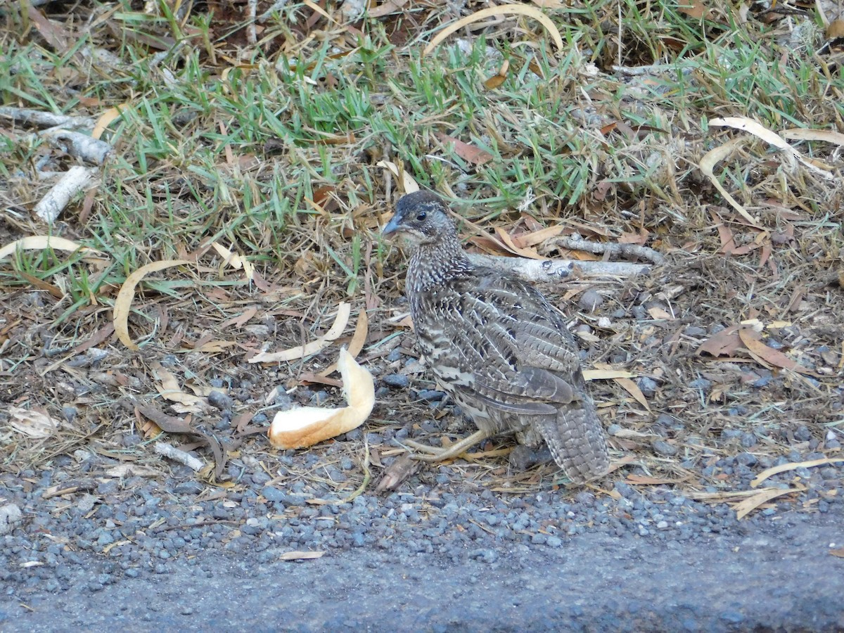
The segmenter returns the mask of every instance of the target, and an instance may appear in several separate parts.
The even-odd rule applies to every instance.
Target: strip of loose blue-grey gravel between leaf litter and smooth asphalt
[[[732,437],[728,440],[735,441]],[[663,455],[677,452],[676,446],[661,440],[654,442],[653,448]],[[333,495],[320,479],[342,481],[360,466],[348,455],[336,460],[328,458],[331,453],[331,448],[322,457],[313,452],[293,453],[288,459],[291,467],[309,465],[321,474],[312,479],[290,478],[284,483],[279,483],[277,476],[284,467],[279,473],[272,473],[274,479],[268,479],[257,460],[235,459],[230,463],[230,472],[238,475],[238,484],[216,495],[209,495],[192,471],[181,466],[173,467],[169,477],[125,473],[122,478],[109,479],[105,473],[114,462],[90,454],[84,464],[90,473],[96,473],[97,479],[89,483],[72,472],[78,470],[78,463],[70,460],[63,461],[63,468],[3,474],[3,506],[17,508],[23,517],[9,511],[10,529],[0,536],[0,581],[5,587],[0,624],[16,622],[17,618],[22,618],[21,622],[37,622],[35,615],[19,605],[47,603],[50,594],[66,593],[73,600],[84,601],[95,600],[95,594],[106,595],[111,587],[152,582],[150,579],[157,576],[187,575],[198,582],[208,560],[222,561],[214,565],[223,568],[251,565],[250,573],[259,573],[262,565],[290,565],[280,561],[291,551],[322,552],[334,561],[330,565],[355,561],[355,565],[365,568],[396,567],[395,573],[399,569],[415,569],[420,577],[432,578],[441,568],[460,571],[463,576],[468,569],[475,569],[479,577],[487,573],[506,577],[501,576],[502,570],[516,574],[515,577],[524,576],[527,567],[520,566],[519,561],[537,560],[540,569],[533,572],[545,582],[571,556],[594,566],[589,560],[596,542],[607,548],[616,566],[619,560],[626,560],[630,551],[651,552],[647,559],[634,560],[632,564],[651,569],[652,573],[657,573],[651,566],[652,557],[668,553],[682,556],[687,552],[689,558],[683,557],[687,564],[721,564],[717,558],[724,554],[713,549],[713,544],[721,542],[718,538],[727,539],[723,541],[725,547],[734,547],[748,534],[766,535],[771,556],[784,556],[782,560],[787,561],[793,543],[784,538],[786,526],[799,533],[803,527],[831,525],[835,534],[830,534],[830,542],[819,541],[814,547],[844,544],[844,504],[841,495],[830,494],[840,489],[844,474],[836,464],[801,467],[766,481],[769,487],[786,490],[793,476],[800,477],[807,490],[796,494],[796,507],[811,508],[811,515],[787,511],[792,504],[786,502],[782,507],[763,508],[739,521],[729,506],[704,503],[668,486],[640,489],[620,480],[612,484],[612,494],[538,486],[537,490],[512,495],[475,484],[461,490],[447,484],[459,479],[459,475],[446,465],[429,467],[421,479],[411,479],[408,487],[398,492],[377,496],[366,491],[354,499],[345,499]],[[750,479],[758,474],[757,462],[751,453],[743,452],[717,459],[702,474],[716,481],[726,475],[738,481],[739,488],[749,489]],[[55,486],[75,486],[80,490],[46,498],[46,490]],[[709,489],[717,491],[712,486]],[[603,559],[606,558],[605,553]],[[798,564],[803,563],[793,561],[795,569]],[[829,565],[825,577],[839,590],[844,588],[844,560],[827,556],[825,564]],[[289,566],[284,567],[288,569]],[[311,569],[316,573],[322,566],[315,564]],[[626,573],[624,569],[618,572]],[[602,573],[609,574],[609,568]],[[796,574],[795,571],[795,577]],[[808,577],[802,571],[801,574]],[[235,578],[225,581],[234,582]],[[471,582],[471,578],[463,581]],[[726,583],[726,579],[722,581]],[[350,580],[341,578],[338,582]],[[746,585],[744,578],[736,582],[741,587]],[[447,590],[454,589],[448,582],[445,584]],[[502,586],[501,591],[507,595],[511,588]],[[123,591],[132,590],[121,589],[117,594],[123,595]],[[736,596],[742,592],[737,588]],[[589,596],[582,598],[587,605],[584,614],[596,608],[597,603],[590,602]],[[768,599],[774,598],[771,594]],[[96,601],[99,603],[100,598]],[[643,608],[640,603],[626,603],[620,595],[613,604],[613,617],[632,617]],[[609,609],[606,604],[603,606]],[[720,621],[722,625],[743,627],[749,621],[763,621],[761,610],[754,616],[756,619],[748,620],[746,607],[746,603],[737,602],[734,608],[724,609],[718,615],[718,609],[712,611],[701,605],[690,607],[689,617],[701,625]],[[493,604],[490,614],[499,609]],[[85,621],[84,613],[78,611],[80,622]],[[454,621],[464,621],[458,615],[455,612]],[[360,617],[360,622],[366,622],[374,613]],[[398,613],[391,617],[394,625],[403,622]],[[581,621],[571,611],[549,617],[549,625]],[[155,621],[155,617],[150,621]],[[536,620],[540,628],[543,621]],[[827,625],[834,621],[825,620]],[[330,624],[324,620],[317,623],[317,628],[330,628]]]

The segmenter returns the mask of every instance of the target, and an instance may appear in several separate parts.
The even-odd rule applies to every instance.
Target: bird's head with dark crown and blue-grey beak
[[[414,246],[433,244],[456,236],[446,205],[435,193],[413,192],[398,199],[393,214],[381,235],[403,235]]]

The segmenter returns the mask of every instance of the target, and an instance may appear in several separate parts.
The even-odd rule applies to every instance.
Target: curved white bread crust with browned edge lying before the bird
[[[375,382],[371,373],[358,365],[345,349],[340,349],[337,365],[349,405],[279,411],[269,427],[269,441],[273,446],[281,449],[311,446],[356,429],[369,417],[375,406]]]

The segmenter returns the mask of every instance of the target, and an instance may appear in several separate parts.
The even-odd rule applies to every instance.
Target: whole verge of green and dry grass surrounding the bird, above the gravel
[[[0,262],[0,398],[55,419],[63,408],[76,411],[66,409],[69,421],[46,441],[8,430],[0,412],[3,468],[43,465],[83,447],[154,463],[146,446],[154,427],[136,405],[176,415],[158,389],[160,364],[185,392],[227,390],[233,428],[206,404],[190,423],[219,425],[229,459],[248,455],[278,472],[279,456],[250,433],[262,418],[249,415],[271,416],[276,405],[265,397],[275,387],[296,387],[294,396],[307,400],[310,392],[297,396],[300,376],[328,365],[336,349],[260,371],[245,362],[252,351],[315,338],[338,302],[350,300],[353,312],[370,314],[362,356],[373,373],[402,369],[387,360],[384,340],[401,312],[393,306],[403,260],[378,236],[400,187],[381,160],[462,201],[457,210],[483,230],[519,235],[561,223],[564,234],[642,243],[668,256],[647,279],[598,285],[603,306],[576,315],[590,327],[582,336],[587,364],[623,367],[656,385],[650,410],[616,382],[593,385],[605,422],[623,431],[615,455],[632,456],[632,472],[696,485],[699,473],[690,473],[719,456],[787,456],[800,425],[809,426],[814,451],[841,439],[841,147],[792,142],[830,168],[835,178],[827,180],[759,138],[709,126],[714,117],[744,116],[775,132],[844,132],[842,53],[825,41],[820,14],[739,15],[725,5],[701,18],[697,3],[574,3],[545,10],[563,51],[536,22],[507,17],[467,27],[422,57],[444,24],[482,5],[457,14],[409,2],[349,22],[338,10],[328,20],[289,3],[261,24],[257,43],[239,5],[208,3],[183,15],[169,14],[166,3],[159,13],[140,3],[113,8],[49,5],[51,26],[19,4],[0,8],[4,104],[94,117],[122,107],[103,137],[113,159],[50,228],[30,213],[50,184],[39,172],[73,160],[31,130],[0,127],[0,245],[49,230],[106,253],[98,263],[53,252]],[[95,51],[112,57],[92,64]],[[745,142],[715,173],[756,225],[698,168],[738,137]],[[266,284],[222,267],[212,241],[245,254]],[[558,254],[553,241],[538,250]],[[129,273],[176,257],[197,267],[143,284],[130,322],[141,352],[113,337],[94,348],[107,353],[101,358],[79,352],[109,326]],[[766,330],[765,341],[814,376],[774,367],[771,377],[745,349],[724,359],[699,353],[718,328],[748,319],[792,323]],[[398,337],[389,340],[414,349],[407,334]],[[232,345],[203,351],[220,341]],[[700,378],[711,387],[690,387]],[[432,387],[424,374],[411,383]],[[368,430],[424,436],[419,423],[428,417],[407,393],[391,392]],[[752,432],[759,443],[741,446],[724,430]],[[123,446],[132,432],[148,439]],[[654,452],[657,438],[676,454]],[[378,454],[395,447],[371,446]],[[319,481],[327,463],[352,456],[360,468],[339,486],[325,481],[326,492],[348,494],[363,481],[360,436],[312,454],[323,461],[297,454],[285,476]],[[548,469],[514,474],[503,464],[493,457],[455,468],[464,485],[495,490],[555,481]]]

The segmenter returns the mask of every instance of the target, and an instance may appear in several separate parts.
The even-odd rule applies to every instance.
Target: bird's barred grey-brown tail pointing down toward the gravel
[[[565,476],[585,484],[609,472],[609,450],[592,398],[564,405],[539,422],[539,433]]]

